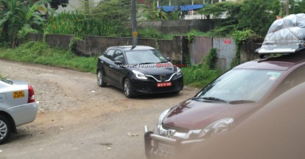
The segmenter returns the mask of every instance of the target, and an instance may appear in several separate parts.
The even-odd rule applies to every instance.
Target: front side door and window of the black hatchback
[[[116,50],[116,52],[113,55],[113,61],[121,61],[122,63],[125,63],[123,52],[120,50]],[[114,81],[114,85],[119,88],[122,88],[122,79],[126,74],[126,70],[123,67],[120,67],[116,64],[114,64],[113,67],[111,67],[111,69],[112,69],[111,77],[112,80]]]

